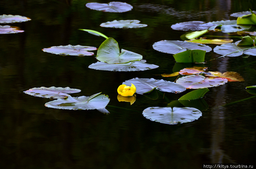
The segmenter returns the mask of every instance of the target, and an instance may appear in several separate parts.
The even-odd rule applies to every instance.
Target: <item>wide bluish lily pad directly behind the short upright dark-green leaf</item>
[[[211,47],[206,46],[204,44],[187,42],[187,41],[179,41],[179,40],[161,40],[153,44],[153,48],[160,52],[169,53],[169,54],[177,54],[186,50],[205,50],[206,52],[210,52],[212,50]]]

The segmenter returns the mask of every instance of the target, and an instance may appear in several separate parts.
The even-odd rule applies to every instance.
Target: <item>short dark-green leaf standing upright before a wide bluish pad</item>
[[[205,50],[187,50],[173,55],[176,62],[194,63],[204,62]]]

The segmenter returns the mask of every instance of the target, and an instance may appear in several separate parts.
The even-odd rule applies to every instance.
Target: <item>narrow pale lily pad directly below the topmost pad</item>
[[[139,20],[114,20],[108,21],[106,23],[100,24],[102,27],[112,27],[112,28],[140,28],[148,26],[146,24],[139,24]]]

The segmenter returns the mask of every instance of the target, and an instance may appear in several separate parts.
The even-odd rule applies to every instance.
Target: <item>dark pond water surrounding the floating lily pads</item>
[[[183,31],[171,25],[186,21],[219,21],[234,12],[256,10],[255,0],[128,0],[132,11],[109,13],[90,10],[83,0],[1,0],[0,15],[12,14],[31,21],[8,24],[24,33],[0,35],[0,153],[1,168],[202,168],[203,163],[252,163],[256,155],[255,98],[245,87],[256,85],[256,58],[220,58],[204,64],[211,71],[234,71],[244,82],[209,88],[209,105],[194,122],[167,125],[143,117],[147,107],[166,107],[184,93],[165,93],[164,99],[137,94],[133,105],[117,100],[116,89],[134,77],[155,78],[172,73],[171,54],[152,45],[160,40],[181,40]],[[97,1],[106,3],[105,1]],[[138,19],[147,27],[115,29],[101,23]],[[4,24],[7,25],[7,24]],[[60,45],[99,47],[104,38],[80,31],[92,29],[113,37],[120,48],[143,55],[157,69],[114,72],[89,69],[94,56],[60,56],[41,49]],[[208,35],[226,36],[227,33]],[[224,38],[225,39],[225,38]],[[234,41],[239,38],[232,38]],[[216,45],[210,45],[214,48]],[[209,52],[208,61],[217,55]],[[188,67],[194,66],[193,64]],[[70,87],[102,92],[110,98],[109,115],[97,110],[61,110],[44,107],[49,99],[23,93],[33,87]]]

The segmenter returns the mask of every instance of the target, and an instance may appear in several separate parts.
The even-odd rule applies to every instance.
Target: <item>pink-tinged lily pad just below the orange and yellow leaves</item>
[[[201,89],[224,85],[228,82],[225,78],[209,78],[202,75],[189,75],[180,77],[176,83],[186,87],[187,89]]]

